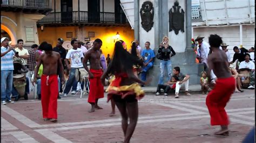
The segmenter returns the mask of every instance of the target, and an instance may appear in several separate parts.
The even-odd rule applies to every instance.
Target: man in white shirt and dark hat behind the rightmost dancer
[[[205,70],[206,70],[208,67],[207,58],[208,58],[208,53],[210,51],[210,45],[206,41],[203,41],[204,38],[205,37],[198,36],[195,41],[198,41],[198,43],[199,43],[200,63],[204,63]]]

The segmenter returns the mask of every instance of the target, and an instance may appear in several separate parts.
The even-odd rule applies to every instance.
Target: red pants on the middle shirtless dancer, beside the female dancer
[[[89,103],[95,103],[96,99],[104,97],[104,87],[102,82],[100,82],[100,77],[102,76],[101,69],[90,69],[93,74],[93,78],[89,78],[90,81],[90,92],[88,97]]]

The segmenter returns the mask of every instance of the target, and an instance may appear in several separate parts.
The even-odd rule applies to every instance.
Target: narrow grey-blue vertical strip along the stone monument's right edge
[[[191,24],[191,0],[186,1],[186,51],[191,49],[192,24]]]

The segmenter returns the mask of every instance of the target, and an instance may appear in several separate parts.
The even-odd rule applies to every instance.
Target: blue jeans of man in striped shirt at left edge
[[[1,101],[11,99],[13,70],[1,70]]]

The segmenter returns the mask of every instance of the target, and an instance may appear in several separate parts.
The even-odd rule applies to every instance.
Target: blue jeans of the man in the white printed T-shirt
[[[64,90],[64,94],[69,94],[69,91],[72,87],[72,91],[76,91],[77,90],[77,81],[75,78],[75,71],[77,68],[71,68],[70,73],[69,73],[69,79],[66,82],[66,87]]]

